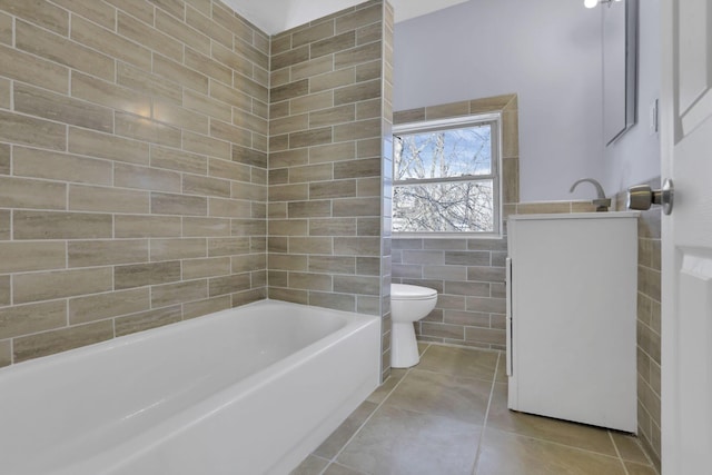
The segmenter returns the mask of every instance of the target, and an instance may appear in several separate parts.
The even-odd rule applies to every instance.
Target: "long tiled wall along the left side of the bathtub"
[[[0,26],[0,366],[264,298],[269,38],[214,0]]]

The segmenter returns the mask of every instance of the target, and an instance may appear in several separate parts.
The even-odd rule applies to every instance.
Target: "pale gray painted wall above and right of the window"
[[[471,0],[395,28],[395,110],[516,92],[522,201],[604,180],[601,12],[577,0]],[[611,190],[614,192],[614,190]]]

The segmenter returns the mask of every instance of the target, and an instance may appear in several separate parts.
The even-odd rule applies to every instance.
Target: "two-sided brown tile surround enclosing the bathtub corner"
[[[0,1],[0,366],[265,298],[268,232],[273,297],[387,316],[392,13]]]

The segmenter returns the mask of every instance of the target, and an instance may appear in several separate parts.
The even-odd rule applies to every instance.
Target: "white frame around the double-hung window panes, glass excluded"
[[[474,177],[448,177],[448,178],[424,178],[424,179],[408,179],[396,180],[396,161],[395,149],[393,160],[393,190],[399,185],[413,185],[413,184],[438,184],[448,181],[479,181],[491,179],[493,182],[493,230],[486,231],[393,231],[393,236],[397,238],[467,238],[467,239],[492,239],[501,238],[503,236],[502,230],[502,113],[478,113],[474,116],[454,117],[441,120],[427,120],[422,122],[402,123],[393,127],[394,147],[396,137],[405,133],[418,133],[431,132],[436,130],[446,129],[462,129],[469,126],[478,126],[483,123],[491,123],[491,142],[492,142],[492,164],[491,172],[488,175],[477,175]],[[395,206],[395,204],[394,204]]]

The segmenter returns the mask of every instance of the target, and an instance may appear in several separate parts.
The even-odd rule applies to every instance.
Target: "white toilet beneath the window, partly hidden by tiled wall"
[[[421,360],[413,323],[435,308],[437,290],[406,284],[390,285],[390,367],[409,368]]]

